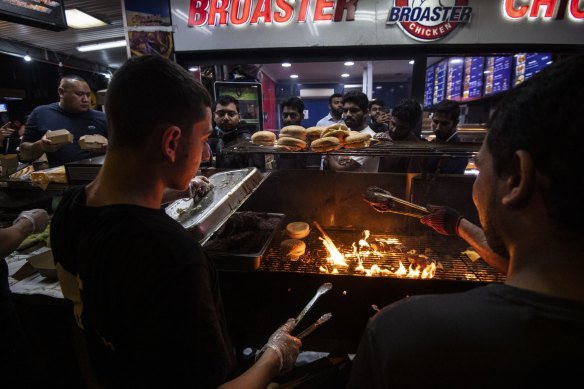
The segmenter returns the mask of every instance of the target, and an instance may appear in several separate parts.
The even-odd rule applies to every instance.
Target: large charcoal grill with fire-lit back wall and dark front
[[[378,213],[362,199],[367,187],[379,186],[419,205],[454,207],[477,223],[471,200],[473,182],[473,176],[462,175],[272,172],[239,210],[284,214],[282,228],[275,234],[258,270],[219,272],[234,344],[261,347],[279,325],[302,310],[324,282],[331,282],[333,289],[319,299],[303,322],[312,323],[327,312],[333,318],[304,338],[303,345],[307,350],[343,353],[356,352],[367,320],[375,313],[373,306],[382,308],[412,295],[461,292],[502,282],[504,276],[484,262],[472,262],[461,254],[468,245],[460,238],[439,235],[418,219]],[[298,261],[290,261],[280,252],[280,242],[287,238],[285,225],[292,221],[311,224],[311,232],[304,239],[307,251]],[[354,266],[339,274],[323,272],[320,267],[327,264],[328,254],[318,239],[320,233],[313,221],[322,226],[342,252],[351,251],[351,244],[368,229],[372,234],[369,242],[377,236],[393,236],[407,251],[428,254],[442,268],[437,269],[433,279],[401,278],[392,274],[366,276]],[[370,268],[375,262],[382,268],[395,269],[399,258],[398,255],[366,260],[364,267]],[[431,323],[428,325],[431,329]],[[301,326],[297,333],[303,329]]]

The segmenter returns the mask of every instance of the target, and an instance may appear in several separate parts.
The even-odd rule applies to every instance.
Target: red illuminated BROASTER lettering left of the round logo
[[[358,0],[191,0],[189,27],[355,20]],[[314,12],[310,5],[314,4]]]

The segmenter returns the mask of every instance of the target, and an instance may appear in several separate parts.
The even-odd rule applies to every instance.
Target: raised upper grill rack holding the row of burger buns
[[[377,142],[369,147],[361,149],[341,149],[329,151],[330,155],[349,156],[449,156],[449,157],[474,157],[480,148],[480,143],[435,143],[435,142]],[[295,154],[311,155],[319,154],[310,151],[286,151],[276,147],[255,145],[249,141],[224,149],[227,153],[259,153],[259,154]]]

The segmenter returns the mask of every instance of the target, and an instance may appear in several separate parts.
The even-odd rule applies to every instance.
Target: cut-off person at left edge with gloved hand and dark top
[[[44,231],[49,215],[44,209],[21,212],[13,225],[0,228],[0,370],[2,380],[11,387],[28,387],[31,355],[28,340],[12,301],[5,257],[12,253],[30,234]],[[32,375],[34,376],[34,374]]]

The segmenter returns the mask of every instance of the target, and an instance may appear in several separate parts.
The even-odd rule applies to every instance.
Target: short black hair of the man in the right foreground
[[[486,138],[495,172],[504,177],[516,166],[517,150],[527,151],[549,183],[544,199],[559,227],[584,231],[582,155],[584,56],[551,64],[513,88],[497,105]],[[567,234],[570,235],[570,234]],[[573,234],[567,239],[573,238]]]

